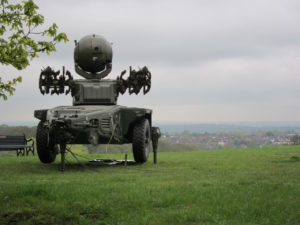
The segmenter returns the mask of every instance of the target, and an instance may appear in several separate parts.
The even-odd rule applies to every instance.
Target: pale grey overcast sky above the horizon
[[[24,71],[0,122],[36,121],[35,109],[71,105],[71,96],[42,96],[41,68],[75,75],[73,40],[99,34],[113,43],[113,71],[148,66],[151,91],[118,104],[154,110],[157,122],[300,121],[300,1],[36,1],[46,25],[70,39]],[[13,74],[13,75],[12,75]],[[79,76],[75,76],[80,78]]]

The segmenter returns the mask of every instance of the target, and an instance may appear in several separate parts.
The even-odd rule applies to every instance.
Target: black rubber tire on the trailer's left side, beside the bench
[[[49,138],[49,130],[40,121],[36,131],[36,148],[42,163],[54,162],[57,154],[57,145]]]

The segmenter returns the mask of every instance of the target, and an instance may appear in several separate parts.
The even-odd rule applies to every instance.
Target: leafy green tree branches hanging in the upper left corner
[[[56,51],[58,42],[67,42],[65,33],[58,33],[57,25],[53,23],[45,30],[44,16],[38,14],[39,8],[33,0],[14,1],[0,0],[0,63],[11,65],[18,70],[25,69],[31,60],[40,53]],[[18,76],[4,82],[0,74],[0,99],[7,99],[7,95],[13,95],[15,85],[22,82]]]

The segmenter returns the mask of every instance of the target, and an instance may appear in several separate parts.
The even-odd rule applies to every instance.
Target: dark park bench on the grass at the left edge
[[[31,142],[31,145],[28,145]],[[28,155],[32,152],[34,155],[34,140],[26,139],[25,134],[2,135],[0,134],[0,151],[17,151],[18,155]]]

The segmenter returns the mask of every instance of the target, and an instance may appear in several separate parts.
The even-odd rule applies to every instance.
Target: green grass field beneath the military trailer
[[[0,224],[299,225],[299,149],[165,152],[127,167],[68,155],[64,173],[59,158],[0,157]]]

